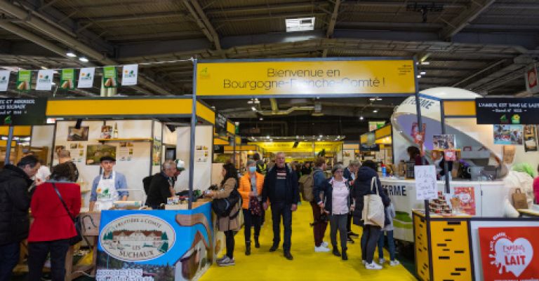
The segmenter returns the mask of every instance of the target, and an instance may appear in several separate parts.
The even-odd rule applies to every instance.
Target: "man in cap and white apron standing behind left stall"
[[[109,210],[114,201],[127,200],[127,181],[124,174],[112,170],[116,159],[111,156],[100,158],[103,173],[93,179],[90,197],[90,212]]]

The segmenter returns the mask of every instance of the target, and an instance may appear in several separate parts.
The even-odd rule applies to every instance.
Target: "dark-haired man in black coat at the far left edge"
[[[30,155],[21,158],[17,166],[7,164],[0,172],[0,281],[11,280],[20,241],[28,237],[28,188],[38,169],[39,160]]]

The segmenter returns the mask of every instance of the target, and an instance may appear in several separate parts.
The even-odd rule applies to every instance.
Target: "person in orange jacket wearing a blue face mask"
[[[251,254],[251,227],[254,226],[255,248],[260,247],[260,222],[262,214],[262,186],[264,175],[256,171],[256,162],[247,161],[247,172],[239,179],[239,194],[241,194],[241,208],[244,212],[245,222],[245,254]]]

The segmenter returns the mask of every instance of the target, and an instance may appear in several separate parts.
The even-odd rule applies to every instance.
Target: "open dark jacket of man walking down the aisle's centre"
[[[264,178],[264,188],[262,189],[262,202],[268,199],[270,203],[275,200],[275,183],[277,181],[277,165],[274,165],[267,171]],[[286,199],[288,205],[298,204],[300,202],[300,189],[298,188],[298,179],[290,166],[286,165]]]

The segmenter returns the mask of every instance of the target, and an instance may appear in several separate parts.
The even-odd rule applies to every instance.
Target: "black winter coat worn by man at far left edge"
[[[0,171],[0,245],[28,237],[32,179],[20,167],[8,164]]]

